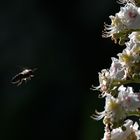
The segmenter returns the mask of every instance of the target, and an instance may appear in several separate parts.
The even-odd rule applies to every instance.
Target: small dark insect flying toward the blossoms
[[[35,69],[24,69],[22,72],[16,74],[12,80],[12,84],[17,84],[17,86],[21,85],[23,81],[31,80],[32,77],[34,77],[33,73],[36,70]]]

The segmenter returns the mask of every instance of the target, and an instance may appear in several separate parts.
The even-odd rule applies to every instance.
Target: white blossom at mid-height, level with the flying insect
[[[120,63],[119,59],[112,57],[112,64],[110,69],[103,69],[99,72],[99,86],[95,89],[100,89],[101,92],[108,93],[110,88],[114,86],[114,89],[120,84],[122,80],[126,78],[126,70],[123,65]]]

